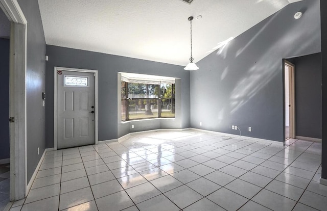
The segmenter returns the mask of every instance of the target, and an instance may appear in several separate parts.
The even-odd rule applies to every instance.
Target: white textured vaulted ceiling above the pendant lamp
[[[38,0],[46,44],[186,65],[300,0]]]

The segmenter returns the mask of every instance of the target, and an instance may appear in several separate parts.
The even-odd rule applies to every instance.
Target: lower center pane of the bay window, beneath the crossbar
[[[157,99],[128,100],[128,119],[145,119],[158,117]]]

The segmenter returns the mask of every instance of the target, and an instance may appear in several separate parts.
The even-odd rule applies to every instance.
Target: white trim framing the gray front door
[[[71,71],[71,72],[89,72],[95,74],[95,144],[99,143],[98,134],[98,70],[86,70],[86,69],[76,69],[76,68],[66,68],[66,67],[55,67],[54,71],[54,150],[57,150],[57,82],[58,82],[58,70]]]

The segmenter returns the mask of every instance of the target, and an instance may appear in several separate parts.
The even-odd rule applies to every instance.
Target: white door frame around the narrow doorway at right
[[[286,59],[283,60],[283,112],[284,112],[284,142],[285,142],[285,117],[286,117],[286,110],[285,110],[285,65],[289,67],[289,101],[290,101],[290,138],[295,139],[296,133],[296,122],[295,122],[295,65],[291,62],[287,61]]]

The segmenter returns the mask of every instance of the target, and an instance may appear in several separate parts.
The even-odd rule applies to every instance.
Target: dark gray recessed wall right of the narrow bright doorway
[[[296,136],[321,139],[321,54],[289,61],[295,65]]]

